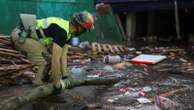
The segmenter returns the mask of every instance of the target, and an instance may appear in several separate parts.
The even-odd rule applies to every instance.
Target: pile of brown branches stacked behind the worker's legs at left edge
[[[0,37],[0,85],[16,84],[18,78],[27,78],[24,73],[33,73],[30,72],[32,67],[30,61],[13,48],[10,38]]]

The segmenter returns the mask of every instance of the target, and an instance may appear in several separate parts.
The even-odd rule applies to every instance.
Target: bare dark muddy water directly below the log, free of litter
[[[33,110],[89,110],[96,101],[97,86],[82,86],[66,90],[60,95],[50,96],[32,104]]]

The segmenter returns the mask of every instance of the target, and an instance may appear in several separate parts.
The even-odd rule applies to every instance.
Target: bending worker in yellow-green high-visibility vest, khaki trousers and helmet
[[[44,84],[50,73],[49,78],[54,87],[61,89],[61,79],[69,76],[68,43],[72,36],[92,31],[93,24],[93,16],[83,11],[74,14],[70,21],[57,17],[38,19],[36,28],[30,28],[30,31],[24,29],[24,24],[16,27],[11,34],[15,48],[25,53],[38,67],[33,83]],[[23,37],[25,35],[27,37]]]

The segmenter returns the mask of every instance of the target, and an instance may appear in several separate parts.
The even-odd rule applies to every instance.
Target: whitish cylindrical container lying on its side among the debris
[[[104,59],[103,59],[103,62],[104,63],[119,63],[121,62],[122,59],[120,56],[116,55],[116,56],[105,56]]]

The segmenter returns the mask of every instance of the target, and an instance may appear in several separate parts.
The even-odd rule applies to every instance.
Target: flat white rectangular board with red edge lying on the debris
[[[166,56],[162,56],[162,55],[142,54],[133,58],[131,62],[140,63],[140,64],[156,64],[166,58],[167,58]]]

